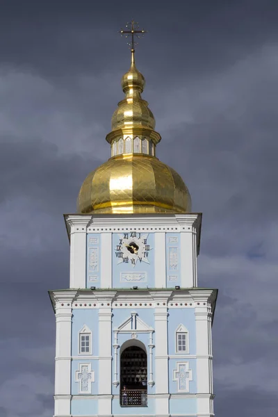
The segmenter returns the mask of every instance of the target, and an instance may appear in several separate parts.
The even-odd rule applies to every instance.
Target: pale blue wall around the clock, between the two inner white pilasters
[[[119,245],[119,240],[122,234],[113,234],[113,284],[114,288],[131,288],[132,286],[138,286],[140,288],[154,288],[154,234],[149,233],[147,236],[147,244],[150,247],[149,250],[149,263],[137,261],[136,265],[131,265],[131,263],[117,263],[118,258],[115,256],[115,249]],[[121,272],[142,272],[146,275],[146,279],[142,281],[124,281],[120,279]]]

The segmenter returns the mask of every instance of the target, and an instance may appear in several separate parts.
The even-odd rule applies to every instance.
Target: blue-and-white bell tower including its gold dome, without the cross
[[[202,216],[171,167],[131,68],[106,136],[111,158],[65,215],[70,286],[56,316],[55,417],[212,417],[217,290],[197,286]]]

